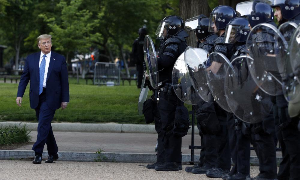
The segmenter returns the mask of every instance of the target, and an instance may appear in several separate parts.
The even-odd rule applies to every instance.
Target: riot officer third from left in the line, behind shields
[[[212,10],[209,19],[209,31],[218,35],[218,38],[214,41],[215,45],[213,46],[212,51],[221,52],[228,56],[228,49],[230,49],[230,47],[224,44],[224,32],[226,24],[235,17],[236,12],[230,6],[220,5]],[[202,105],[201,111],[202,117],[204,115],[204,117],[211,118],[209,122],[218,123],[220,125],[220,130],[217,131],[217,134],[212,135],[214,136],[215,141],[207,143],[208,147],[205,147],[205,156],[210,154],[211,163],[209,165],[204,164],[201,168],[194,168],[192,173],[206,174],[208,177],[220,178],[223,174],[228,173],[231,167],[226,128],[227,113],[213,101],[213,98],[210,102]]]

